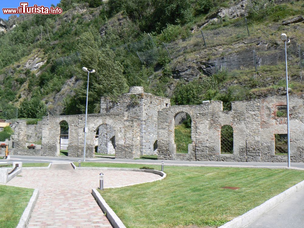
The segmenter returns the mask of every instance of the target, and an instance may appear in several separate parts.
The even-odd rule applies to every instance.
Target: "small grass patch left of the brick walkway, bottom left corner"
[[[0,185],[0,227],[16,227],[32,195],[30,188]]]

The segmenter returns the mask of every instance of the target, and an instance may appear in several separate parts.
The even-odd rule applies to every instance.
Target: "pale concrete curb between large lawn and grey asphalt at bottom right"
[[[251,209],[250,211],[246,212],[245,214],[238,216],[232,219],[230,222],[225,223],[223,226],[219,228],[242,228],[248,226],[254,220],[256,220],[259,216],[268,212],[270,209],[277,206],[280,202],[284,201],[289,196],[295,194],[300,189],[304,188],[304,181],[288,188],[284,192],[268,199],[266,202],[262,203],[261,205]]]

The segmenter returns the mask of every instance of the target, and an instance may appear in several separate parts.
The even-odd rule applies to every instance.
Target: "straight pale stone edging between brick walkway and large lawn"
[[[119,219],[116,213],[110,208],[110,206],[105,202],[105,200],[102,198],[102,196],[96,189],[92,189],[92,195],[96,199],[102,212],[105,213],[107,219],[109,220],[113,228],[126,228],[123,222]]]

